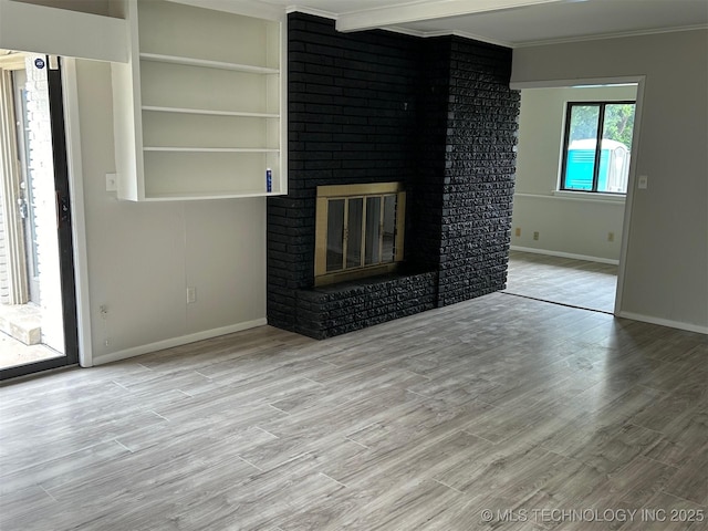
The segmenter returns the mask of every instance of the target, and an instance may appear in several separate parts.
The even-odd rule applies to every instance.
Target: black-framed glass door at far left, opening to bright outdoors
[[[60,58],[0,50],[1,379],[77,360],[63,128]]]

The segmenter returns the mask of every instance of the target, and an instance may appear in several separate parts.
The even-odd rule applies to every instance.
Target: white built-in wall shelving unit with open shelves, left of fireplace
[[[125,14],[131,62],[113,64],[118,197],[285,194],[284,20],[163,0],[127,0]]]

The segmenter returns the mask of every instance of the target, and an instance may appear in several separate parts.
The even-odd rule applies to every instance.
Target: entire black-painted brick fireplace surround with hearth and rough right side
[[[289,194],[268,199],[268,322],[325,339],[504,288],[511,50],[289,15]],[[395,274],[314,288],[316,187],[403,183]]]

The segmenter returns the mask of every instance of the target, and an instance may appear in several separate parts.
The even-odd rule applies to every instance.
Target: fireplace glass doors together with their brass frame
[[[395,270],[405,197],[398,183],[317,187],[315,285]]]

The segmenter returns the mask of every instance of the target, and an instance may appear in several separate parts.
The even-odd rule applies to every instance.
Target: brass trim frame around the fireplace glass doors
[[[364,204],[366,197],[396,196],[396,221],[394,237],[394,261],[375,263],[357,268],[347,268],[333,272],[326,271],[326,242],[327,242],[327,208],[333,199],[351,199],[362,197]],[[361,279],[393,272],[398,262],[404,258],[404,231],[406,212],[406,192],[402,183],[372,183],[366,185],[335,185],[317,186],[316,215],[315,215],[315,257],[314,257],[314,284],[326,285],[335,282]],[[362,236],[362,240],[364,237]]]

